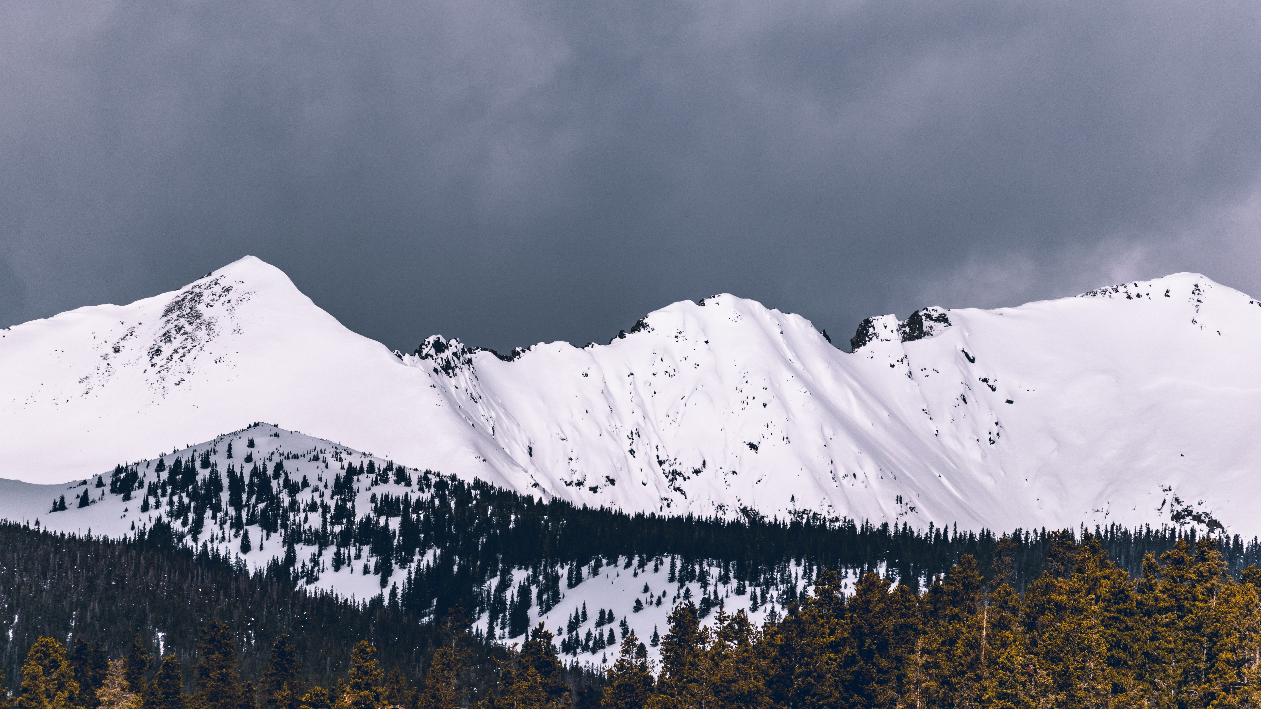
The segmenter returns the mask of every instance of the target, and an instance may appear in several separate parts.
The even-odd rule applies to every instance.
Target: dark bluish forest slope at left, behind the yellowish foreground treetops
[[[274,565],[251,573],[240,561],[194,553],[166,525],[108,540],[3,524],[0,671],[16,684],[23,657],[40,637],[84,641],[111,656],[130,652],[139,637],[146,651],[188,667],[198,628],[221,621],[238,638],[240,671],[253,681],[282,633],[291,637],[304,683],[328,684],[346,672],[359,640],[381,648],[390,667],[421,675],[438,642],[434,623],[407,614],[397,599],[358,603],[303,590],[284,571]],[[488,662],[492,650],[477,643],[474,665]]]

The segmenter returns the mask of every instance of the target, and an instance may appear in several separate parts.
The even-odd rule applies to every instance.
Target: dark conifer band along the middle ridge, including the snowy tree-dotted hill
[[[560,579],[571,582],[598,560],[636,559],[639,569],[667,555],[685,564],[718,560],[736,582],[767,592],[788,560],[859,570],[886,565],[902,583],[923,584],[962,554],[989,569],[996,542],[990,531],[932,524],[915,530],[811,515],[765,520],[752,510],[724,520],[579,508],[388,460],[377,464],[343,449],[259,450],[256,459],[252,443],[247,439],[237,450],[245,452],[241,458],[232,458],[227,443],[222,474],[216,445],[190,452],[187,460],[175,455],[117,466],[108,484],[102,476],[95,487],[83,487],[79,505],[97,493],[120,496],[127,505],[139,500],[140,520],[166,521],[184,544],[208,544],[224,554],[276,544],[272,537],[280,535],[281,573],[308,584],[329,570],[372,574],[387,594],[398,593],[406,612],[434,619],[460,606],[474,618],[497,616],[509,637],[525,632],[525,624],[503,622],[508,609],[498,608],[498,592],[485,588],[508,569],[530,570],[528,588],[512,594],[549,609],[564,593]],[[73,513],[61,500],[53,508],[50,513]],[[1097,534],[1111,556],[1137,574],[1144,554],[1163,554],[1192,532],[1113,525]],[[1040,573],[1049,542],[1045,530],[1011,537],[1019,590]],[[1261,559],[1261,542],[1233,537],[1224,554],[1237,571]]]

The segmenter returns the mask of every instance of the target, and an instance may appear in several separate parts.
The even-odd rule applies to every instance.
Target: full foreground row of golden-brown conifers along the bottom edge
[[[542,624],[520,643],[485,652],[467,617],[453,609],[430,628],[435,642],[421,676],[390,669],[390,653],[367,640],[330,635],[329,645],[346,642],[346,674],[311,686],[295,636],[280,633],[264,646],[212,621],[195,640],[185,638],[195,642],[192,662],[175,652],[151,659],[141,635],[112,652],[84,637],[68,648],[57,637],[38,638],[5,703],[14,709],[1261,705],[1261,570],[1248,566],[1236,579],[1216,540],[1179,539],[1159,559],[1145,555],[1140,575],[1131,578],[1095,535],[1048,537],[1045,568],[1023,593],[1011,587],[1016,542],[1004,535],[987,574],[965,554],[924,590],[869,573],[846,593],[837,571],[821,569],[810,593],[760,626],[743,609],[720,606],[706,627],[685,601],[661,638],[660,666],[629,633],[603,681],[575,683]],[[295,630],[299,637],[328,632]],[[238,655],[255,656],[256,679],[241,676]]]

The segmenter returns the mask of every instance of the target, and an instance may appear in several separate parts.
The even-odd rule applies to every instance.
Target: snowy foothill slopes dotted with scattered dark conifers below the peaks
[[[406,594],[421,566],[427,570],[435,563],[440,550],[433,537],[416,536],[426,524],[411,526],[409,534],[402,516],[415,520],[420,515],[434,525],[435,511],[449,512],[456,502],[436,492],[440,479],[329,440],[253,424],[83,481],[0,479],[0,520],[113,539],[165,521],[178,540],[194,549],[238,558],[253,569],[272,561],[288,564],[306,588],[367,599],[387,592]],[[390,508],[386,501],[398,506]],[[392,532],[391,542],[378,546],[376,530],[383,529]],[[391,560],[390,570],[383,570],[383,558]],[[614,561],[605,565],[595,558],[574,566],[578,561],[533,559],[525,568],[506,568],[504,560],[496,575],[473,588],[474,626],[504,640],[511,635],[506,597],[516,597],[526,585],[533,598],[535,588],[546,587],[540,579],[547,574],[572,579],[564,588],[557,585],[554,602],[543,604],[542,595],[532,602],[522,627],[542,621],[564,640],[560,646],[570,659],[600,665],[617,655],[623,632],[634,631],[646,643],[654,632],[665,633],[667,616],[681,599],[707,595],[728,612],[744,609],[760,621],[772,611],[783,613],[797,589],[805,589],[808,574],[801,561],[784,559],[773,573],[760,575],[762,588],[754,583],[745,588],[733,583],[731,566],[724,573],[721,563],[711,559],[663,555]],[[459,564],[468,566],[464,578],[470,580],[477,564],[467,559]],[[683,564],[694,566],[690,575]],[[575,569],[581,570],[575,574]],[[847,573],[852,582],[860,571]],[[491,612],[497,595],[499,612]],[[420,614],[433,617],[433,611]],[[705,617],[706,624],[712,621],[714,616]],[[608,642],[610,630],[614,642]],[[654,645],[649,655],[660,655]]]

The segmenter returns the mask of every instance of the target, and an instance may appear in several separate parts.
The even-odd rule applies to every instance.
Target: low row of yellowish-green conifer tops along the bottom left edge
[[[185,671],[175,655],[151,657],[137,636],[127,652],[108,660],[100,643],[76,640],[67,650],[50,637],[32,645],[20,685],[0,695],[0,709],[514,709],[579,706],[595,709],[600,691],[575,685],[560,664],[551,633],[540,624],[521,648],[513,645],[493,662],[489,691],[479,693],[470,659],[479,655],[467,617],[453,609],[439,628],[439,647],[425,680],[414,686],[398,667],[385,671],[377,648],[358,641],[344,677],[309,685],[288,635],[272,643],[266,672],[242,680],[237,638],[222,622],[203,626],[197,661]],[[151,671],[156,667],[156,671]],[[185,691],[185,675],[190,691]],[[585,701],[584,701],[585,700]]]

